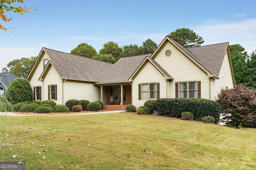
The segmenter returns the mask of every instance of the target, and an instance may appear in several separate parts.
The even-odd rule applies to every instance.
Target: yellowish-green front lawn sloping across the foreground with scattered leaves
[[[256,167],[252,128],[125,113],[13,116],[6,121],[10,127],[0,135],[1,161],[26,161],[27,170]]]

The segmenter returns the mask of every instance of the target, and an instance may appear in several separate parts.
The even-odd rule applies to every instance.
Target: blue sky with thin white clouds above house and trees
[[[158,45],[178,28],[192,29],[202,45],[229,42],[256,49],[254,0],[26,0],[34,14],[6,13],[0,22],[0,71],[14,59],[38,56],[42,47],[70,53],[80,43],[98,52],[108,41]]]

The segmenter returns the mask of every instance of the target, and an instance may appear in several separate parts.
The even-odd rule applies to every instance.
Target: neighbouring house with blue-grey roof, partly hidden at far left
[[[0,73],[0,96],[5,96],[11,82],[18,78],[12,73]]]

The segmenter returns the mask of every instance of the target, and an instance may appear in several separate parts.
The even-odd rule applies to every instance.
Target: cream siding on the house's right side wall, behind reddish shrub
[[[220,79],[211,80],[211,100],[215,100],[221,88],[226,89],[226,87],[234,87],[227,53],[220,68],[219,78]]]

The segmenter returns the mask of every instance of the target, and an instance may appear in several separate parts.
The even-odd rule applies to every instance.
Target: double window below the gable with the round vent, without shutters
[[[197,98],[197,82],[180,82],[180,98]]]

